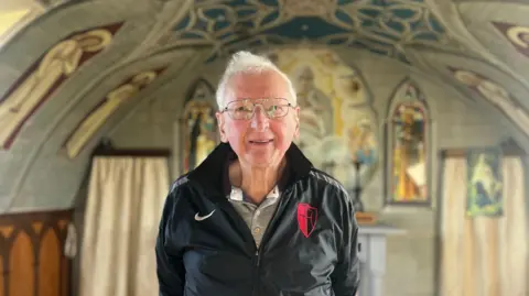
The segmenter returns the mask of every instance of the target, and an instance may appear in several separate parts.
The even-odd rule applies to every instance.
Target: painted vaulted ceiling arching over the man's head
[[[37,205],[31,185],[48,189],[48,160],[82,175],[145,101],[182,94],[197,72],[214,84],[242,48],[323,46],[398,65],[505,118],[529,147],[527,15],[519,0],[2,0],[0,210]]]

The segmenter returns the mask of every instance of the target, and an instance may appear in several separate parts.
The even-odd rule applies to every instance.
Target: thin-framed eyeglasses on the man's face
[[[269,119],[282,118],[289,113],[290,107],[293,107],[289,100],[282,98],[258,100],[244,99],[228,102],[222,112],[227,112],[234,120],[249,120],[253,117],[257,106],[261,106],[262,111]]]

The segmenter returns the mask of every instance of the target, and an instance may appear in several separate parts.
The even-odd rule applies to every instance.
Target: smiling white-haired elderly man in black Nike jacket
[[[342,185],[292,143],[299,107],[269,59],[239,52],[217,89],[222,142],[172,186],[160,296],[353,296],[358,226]]]

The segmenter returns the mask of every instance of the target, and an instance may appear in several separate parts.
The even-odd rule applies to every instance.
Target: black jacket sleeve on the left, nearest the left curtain
[[[185,238],[176,238],[176,235],[182,233],[179,228],[183,227],[183,220],[179,221],[177,217],[181,217],[180,213],[185,210],[186,202],[179,191],[173,185],[160,219],[155,244],[159,296],[184,295],[185,268],[182,261],[182,248],[175,242],[185,240]]]

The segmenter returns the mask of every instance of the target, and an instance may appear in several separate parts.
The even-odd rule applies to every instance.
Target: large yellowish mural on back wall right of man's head
[[[347,189],[358,186],[358,175],[368,183],[379,160],[378,129],[359,73],[327,48],[282,48],[266,55],[298,92],[301,123],[294,143]]]

